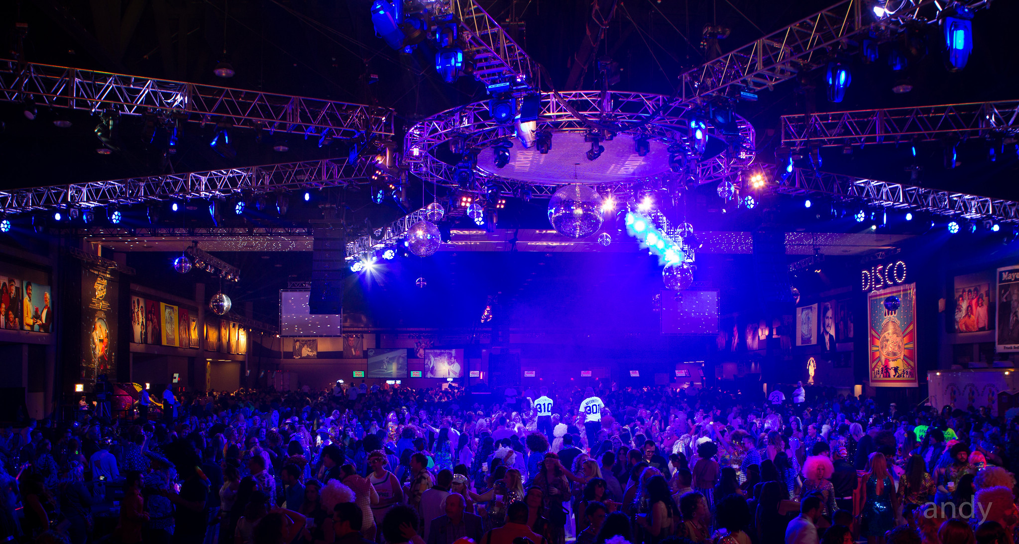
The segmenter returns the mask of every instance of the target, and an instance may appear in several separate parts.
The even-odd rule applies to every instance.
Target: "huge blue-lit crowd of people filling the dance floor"
[[[161,415],[0,428],[0,538],[1016,544],[1015,409],[802,384],[791,400],[614,383],[167,392]]]

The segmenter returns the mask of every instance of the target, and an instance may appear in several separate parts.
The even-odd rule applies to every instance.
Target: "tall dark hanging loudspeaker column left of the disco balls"
[[[311,314],[343,313],[346,235],[342,228],[317,228],[312,235]]]

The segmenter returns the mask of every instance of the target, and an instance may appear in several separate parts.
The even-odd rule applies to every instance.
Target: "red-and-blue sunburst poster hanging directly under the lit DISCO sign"
[[[916,284],[870,292],[867,295],[867,319],[870,385],[917,387]]]

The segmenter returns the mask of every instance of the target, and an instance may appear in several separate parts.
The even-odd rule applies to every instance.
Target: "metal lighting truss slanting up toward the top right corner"
[[[970,9],[987,0],[962,0]],[[853,46],[868,33],[889,36],[912,21],[928,22],[942,10],[940,0],[903,0],[894,13],[876,18],[866,0],[843,0],[785,29],[712,59],[680,75],[684,101],[723,92],[737,85],[750,91],[772,90],[797,73],[812,70],[829,59],[829,49]]]

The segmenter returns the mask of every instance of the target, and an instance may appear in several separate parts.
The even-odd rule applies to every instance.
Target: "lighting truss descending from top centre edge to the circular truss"
[[[486,87],[509,83],[539,88],[538,64],[475,0],[452,0],[450,7],[467,40],[464,54],[474,59],[476,79]]]

